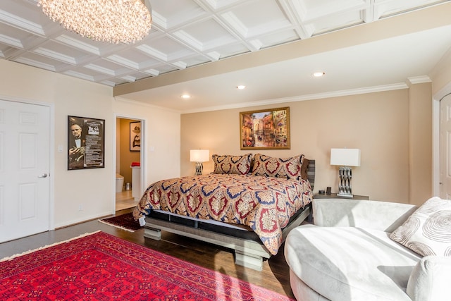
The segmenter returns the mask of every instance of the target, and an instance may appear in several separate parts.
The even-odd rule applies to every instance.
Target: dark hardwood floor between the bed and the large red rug
[[[132,209],[117,211],[116,215],[129,211],[132,211]],[[151,240],[144,238],[144,230],[132,233],[100,223],[97,220],[1,243],[0,259],[99,230],[294,298],[290,288],[288,265],[283,256],[283,246],[280,247],[276,256],[264,261],[263,271],[254,271],[235,265],[232,250],[223,247],[167,232],[162,233],[161,240]]]

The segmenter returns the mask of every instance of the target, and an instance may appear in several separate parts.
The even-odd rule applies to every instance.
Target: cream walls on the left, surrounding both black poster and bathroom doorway
[[[115,100],[111,96],[112,88],[106,85],[20,63],[0,60],[0,70],[0,99],[42,103],[53,108],[51,226],[67,226],[113,212],[116,185],[114,141],[117,137],[113,129],[116,128],[117,115],[144,120],[144,143],[155,145],[155,151],[146,157],[144,180],[180,175],[180,113]],[[68,115],[105,120],[105,168],[67,170]],[[163,124],[168,126],[163,129]],[[63,152],[58,152],[58,145],[63,147]],[[82,205],[82,211],[78,210],[79,205]]]

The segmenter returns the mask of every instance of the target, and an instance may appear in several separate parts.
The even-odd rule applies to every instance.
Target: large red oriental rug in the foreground
[[[291,300],[98,232],[0,262],[0,300]]]

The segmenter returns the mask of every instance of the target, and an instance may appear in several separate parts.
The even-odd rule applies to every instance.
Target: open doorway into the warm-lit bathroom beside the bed
[[[135,207],[141,196],[141,119],[116,117],[116,197],[115,211]]]

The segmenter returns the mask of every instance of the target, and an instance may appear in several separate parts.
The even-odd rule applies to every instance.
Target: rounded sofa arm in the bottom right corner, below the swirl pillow
[[[406,293],[413,301],[445,301],[451,296],[451,257],[421,258],[410,274]]]

